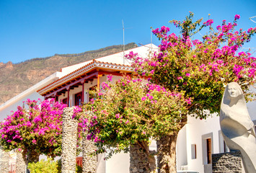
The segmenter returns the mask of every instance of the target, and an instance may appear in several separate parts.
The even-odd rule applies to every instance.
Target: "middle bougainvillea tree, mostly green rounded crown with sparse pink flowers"
[[[128,151],[129,146],[137,143],[150,162],[150,138],[159,139],[182,127],[180,120],[187,112],[190,99],[185,99],[182,93],[169,92],[162,86],[142,81],[125,76],[115,84],[103,82],[94,99],[84,105],[82,114],[87,116],[84,120],[87,139],[96,142],[97,153],[107,151],[109,158],[120,151]]]

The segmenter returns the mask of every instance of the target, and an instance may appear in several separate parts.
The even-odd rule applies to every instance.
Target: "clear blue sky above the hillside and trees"
[[[172,26],[169,20],[182,20],[188,12],[195,19],[222,19],[232,22],[240,14],[238,27],[256,27],[249,17],[256,16],[256,1],[92,1],[92,0],[0,0],[0,62],[18,63],[55,53],[81,53],[109,45],[148,44],[150,27]],[[256,18],[254,18],[256,20]],[[175,27],[171,27],[171,31]],[[156,37],[153,43],[159,45]],[[244,47],[256,47],[256,36]],[[255,49],[254,49],[255,50]],[[253,55],[255,56],[256,53]]]

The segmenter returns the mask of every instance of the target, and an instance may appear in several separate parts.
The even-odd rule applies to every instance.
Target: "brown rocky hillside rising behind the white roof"
[[[125,50],[136,48],[135,43],[125,45]],[[0,63],[0,105],[45,79],[61,68],[94,58],[123,51],[123,45],[112,45],[99,50],[76,54],[55,54],[47,58],[33,58],[22,63]]]

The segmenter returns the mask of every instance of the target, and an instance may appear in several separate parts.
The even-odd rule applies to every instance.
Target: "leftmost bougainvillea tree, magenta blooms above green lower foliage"
[[[27,155],[28,162],[38,161],[40,154],[60,156],[64,107],[65,104],[53,99],[27,99],[24,107],[18,106],[17,111],[1,123],[1,146],[6,151],[17,149],[24,159]]]

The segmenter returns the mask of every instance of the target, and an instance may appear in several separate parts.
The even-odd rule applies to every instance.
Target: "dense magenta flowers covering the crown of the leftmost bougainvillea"
[[[39,102],[39,104],[38,104]],[[51,100],[27,99],[25,107],[17,107],[17,111],[6,117],[1,123],[1,143],[6,141],[9,148],[25,148],[37,143],[53,145],[61,134],[62,113],[66,105]],[[9,144],[8,144],[9,143]],[[48,143],[48,144],[46,144]]]

